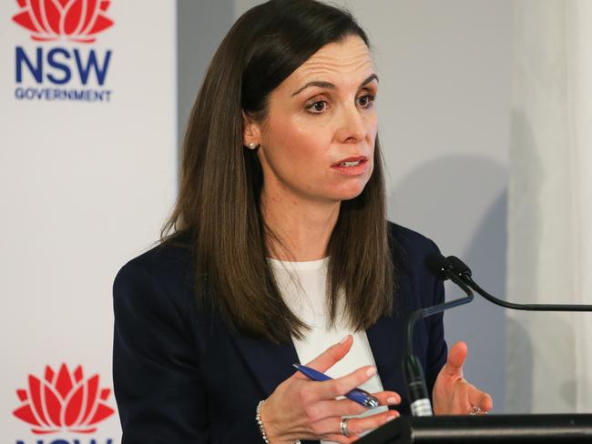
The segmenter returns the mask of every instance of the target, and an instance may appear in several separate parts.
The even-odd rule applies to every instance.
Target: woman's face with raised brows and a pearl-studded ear
[[[273,90],[264,122],[245,131],[245,144],[260,144],[263,196],[323,203],[358,196],[373,172],[377,90],[357,35],[323,46]]]

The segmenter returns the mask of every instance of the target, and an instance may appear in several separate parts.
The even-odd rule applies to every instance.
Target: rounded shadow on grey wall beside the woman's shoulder
[[[483,288],[505,298],[506,178],[505,166],[488,157],[434,159],[391,190],[391,219],[432,237],[445,256],[463,258]],[[460,296],[454,287],[446,287],[446,292],[448,300]],[[490,393],[495,412],[501,412],[505,405],[504,309],[476,297],[469,306],[446,312],[444,324],[449,345],[464,340],[469,346],[466,378]]]

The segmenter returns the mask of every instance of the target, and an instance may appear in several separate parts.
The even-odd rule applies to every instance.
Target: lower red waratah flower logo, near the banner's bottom
[[[110,393],[110,389],[98,388],[98,375],[84,379],[80,366],[70,372],[62,364],[57,373],[47,366],[43,379],[29,375],[28,389],[16,390],[24,404],[13,414],[34,426],[31,431],[37,434],[92,433],[97,422],[115,411],[105,404]]]

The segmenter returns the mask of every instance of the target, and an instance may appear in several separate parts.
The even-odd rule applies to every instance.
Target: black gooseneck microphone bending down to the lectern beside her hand
[[[434,253],[425,259],[425,266],[438,278],[450,279],[458,287],[462,288],[466,296],[434,307],[419,308],[410,315],[407,321],[406,345],[403,354],[403,378],[409,395],[409,406],[413,416],[433,416],[432,403],[425,385],[424,370],[419,358],[413,353],[413,328],[419,319],[427,318],[442,313],[448,308],[468,304],[474,298],[473,291],[465,283],[464,279],[457,276],[448,259],[440,253]]]

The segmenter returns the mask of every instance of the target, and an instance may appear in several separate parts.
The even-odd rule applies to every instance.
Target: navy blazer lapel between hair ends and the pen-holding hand
[[[265,398],[296,371],[292,364],[299,360],[292,343],[277,345],[242,335],[233,338],[253,377],[259,382]]]

